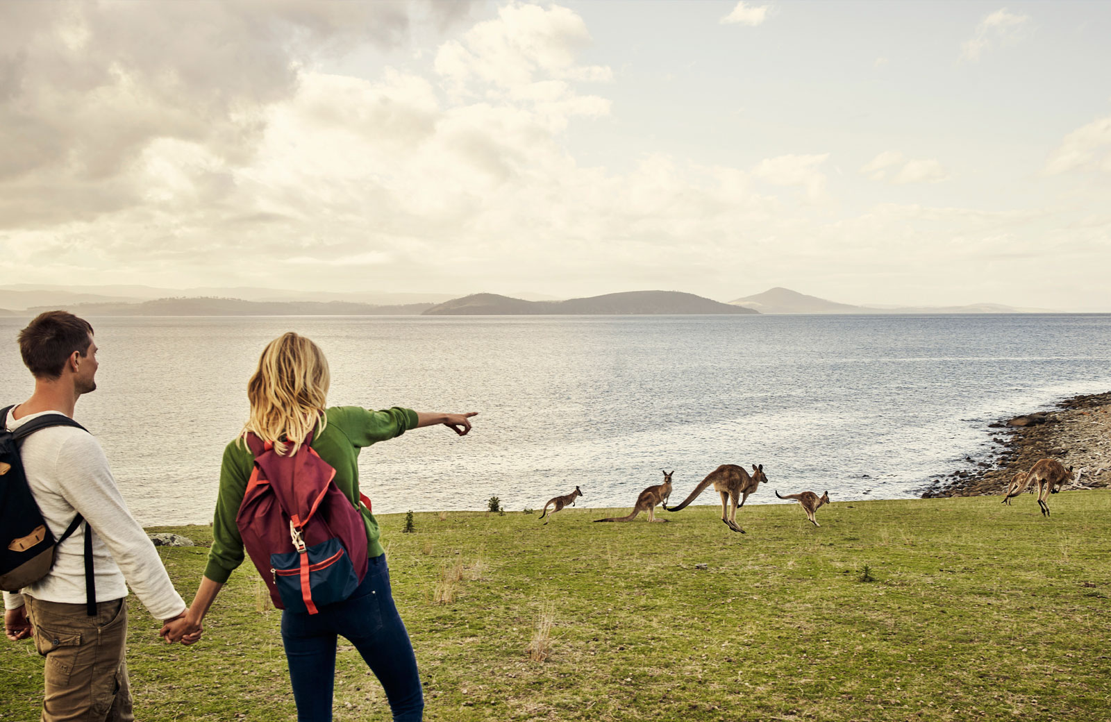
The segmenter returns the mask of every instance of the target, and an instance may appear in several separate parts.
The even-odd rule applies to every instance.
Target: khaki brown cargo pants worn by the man
[[[24,599],[34,629],[34,649],[47,658],[42,722],[134,720],[123,659],[126,600],[100,602],[97,615],[89,616],[84,604]]]

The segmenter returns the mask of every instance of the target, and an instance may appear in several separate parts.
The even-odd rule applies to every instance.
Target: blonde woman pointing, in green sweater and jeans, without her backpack
[[[423,413],[394,407],[368,411],[360,407],[326,407],[328,361],[312,341],[284,333],[262,351],[247,384],[251,403],[243,431],[223,452],[220,492],[212,520],[212,548],[200,588],[186,619],[168,624],[167,641],[191,644],[200,639],[201,621],[232,570],[243,561],[236,514],[251,475],[253,457],[248,433],[273,442],[280,454],[296,453],[313,432],[310,447],[336,469],[334,481],[362,513],[367,528],[367,575],[348,599],[327,604],[317,614],[284,610],[282,643],[289,663],[299,722],[332,719],[336,641],[342,635],[362,654],[386,690],[396,721],[422,719],[424,709],[417,660],[404,624],[393,604],[378,522],[359,503],[359,451],[409,429],[444,424],[459,435],[471,430],[470,413]]]

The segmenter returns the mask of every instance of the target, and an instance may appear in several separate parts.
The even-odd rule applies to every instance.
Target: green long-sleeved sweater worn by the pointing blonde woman
[[[327,411],[324,431],[310,444],[320,458],[336,469],[336,485],[351,503],[359,505],[359,451],[378,441],[400,437],[417,427],[417,412],[393,407],[386,411],[368,411],[360,407],[331,407]],[[212,548],[209,550],[204,575],[213,582],[228,581],[231,572],[243,562],[243,540],[236,525],[236,514],[247,492],[247,480],[254,468],[254,457],[247,444],[236,439],[223,450],[220,467],[220,493],[212,518]],[[378,542],[378,522],[366,507],[367,555],[384,553]]]

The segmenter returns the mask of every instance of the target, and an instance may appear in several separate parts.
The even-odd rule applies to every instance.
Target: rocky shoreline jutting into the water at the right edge
[[[923,499],[1002,494],[1018,471],[1029,471],[1039,459],[1057,459],[1083,469],[1080,481],[1065,489],[1111,487],[1111,392],[1072,397],[1049,411],[989,424],[1002,444],[994,462],[973,461],[971,469],[938,479]]]

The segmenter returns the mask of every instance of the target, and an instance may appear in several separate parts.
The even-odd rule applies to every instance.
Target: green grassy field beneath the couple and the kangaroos
[[[1111,492],[1050,505],[1047,520],[1029,495],[842,502],[821,528],[759,505],[743,535],[710,507],[665,524],[419,513],[412,534],[379,519],[429,720],[1107,719]],[[161,553],[191,598],[203,545]],[[293,719],[262,589],[241,568],[192,648],[162,644],[130,598],[138,719]],[[390,719],[340,642],[336,719]],[[0,645],[0,720],[38,719],[41,668],[30,642]]]

